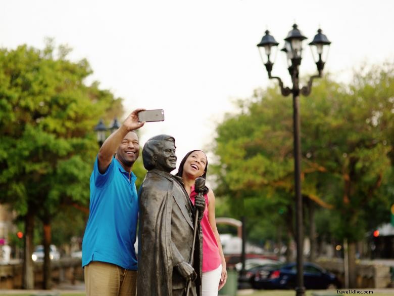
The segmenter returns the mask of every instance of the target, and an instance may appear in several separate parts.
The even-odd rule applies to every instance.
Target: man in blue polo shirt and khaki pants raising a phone
[[[139,155],[134,110],[103,143],[90,177],[90,213],[82,242],[87,296],[135,295],[138,219],[136,177],[131,168]],[[114,157],[114,152],[116,155]]]

